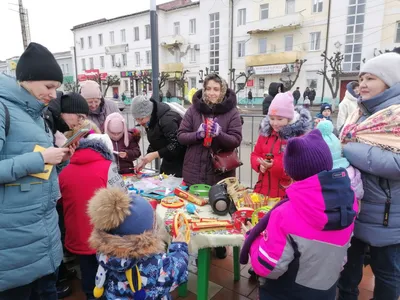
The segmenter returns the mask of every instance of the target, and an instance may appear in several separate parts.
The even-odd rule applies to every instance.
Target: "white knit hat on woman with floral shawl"
[[[360,74],[370,73],[377,76],[389,87],[400,82],[400,55],[385,53],[368,60],[362,67]]]

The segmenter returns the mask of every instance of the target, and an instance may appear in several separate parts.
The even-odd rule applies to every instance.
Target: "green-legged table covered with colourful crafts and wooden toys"
[[[156,184],[154,180],[151,182]],[[131,183],[128,181],[128,184]],[[228,178],[213,187],[192,186],[188,191],[182,186],[174,190],[164,186],[142,192],[141,186],[146,183],[136,184],[135,190],[140,190],[153,203],[154,199],[159,201],[155,206],[156,222],[162,239],[169,244],[181,232],[186,237],[189,252],[198,253],[197,299],[208,299],[212,248],[233,247],[234,280],[240,279],[239,252],[244,242],[241,224],[246,220],[256,223],[270,209],[263,196],[247,193],[236,178]],[[178,292],[180,297],[185,297],[187,284],[181,285]]]

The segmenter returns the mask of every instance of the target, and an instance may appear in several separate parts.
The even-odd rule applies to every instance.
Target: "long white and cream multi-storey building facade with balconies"
[[[201,88],[207,72],[219,72],[232,88],[242,89],[239,102],[251,89],[260,103],[271,82],[282,79],[293,85],[299,63],[306,60],[291,90],[312,87],[316,102],[322,94],[324,101],[330,101],[328,85],[318,74],[323,69],[321,54],[344,53],[343,70],[348,76],[343,83],[354,79],[356,69],[364,58],[373,56],[374,49],[400,45],[400,8],[394,2],[175,0],[159,5],[160,71],[169,75],[162,93],[185,96],[191,88]],[[107,96],[133,97],[151,91],[149,11],[100,19],[72,30],[78,79],[87,79],[88,74],[103,79],[119,76],[120,84],[110,88]],[[237,79],[241,72],[252,74],[246,84],[244,77]],[[182,76],[186,84],[177,85]]]

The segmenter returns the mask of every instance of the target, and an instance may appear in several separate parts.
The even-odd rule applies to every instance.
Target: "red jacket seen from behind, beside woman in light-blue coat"
[[[124,186],[111,153],[99,141],[82,140],[69,165],[60,173],[59,182],[65,247],[74,254],[95,254],[96,250],[88,244],[93,227],[86,213],[87,204],[100,188]]]

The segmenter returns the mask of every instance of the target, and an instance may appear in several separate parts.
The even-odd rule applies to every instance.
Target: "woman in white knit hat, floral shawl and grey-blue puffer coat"
[[[361,171],[364,197],[339,300],[356,300],[366,248],[375,275],[374,300],[400,296],[400,55],[385,53],[361,68],[358,106],[342,130],[344,156]]]

